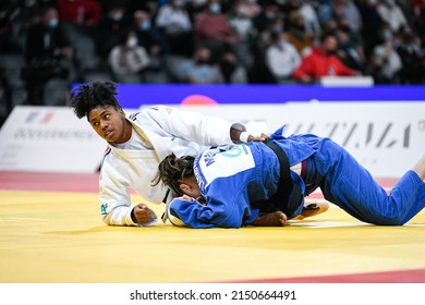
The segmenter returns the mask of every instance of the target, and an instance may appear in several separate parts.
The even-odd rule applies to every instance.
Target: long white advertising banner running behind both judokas
[[[425,152],[425,102],[420,101],[178,107],[245,123],[257,134],[286,125],[287,136],[330,137],[375,176],[398,178]],[[70,108],[17,106],[0,130],[0,170],[93,173],[105,148],[86,119]]]

